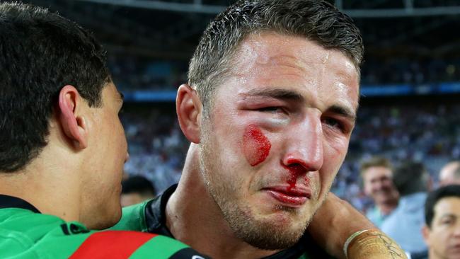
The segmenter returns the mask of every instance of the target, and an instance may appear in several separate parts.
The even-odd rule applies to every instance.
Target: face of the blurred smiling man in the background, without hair
[[[376,205],[393,202],[398,192],[393,185],[393,173],[384,166],[372,166],[363,172],[364,192],[372,197]]]

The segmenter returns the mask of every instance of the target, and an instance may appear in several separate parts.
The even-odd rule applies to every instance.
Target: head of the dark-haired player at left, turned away
[[[105,50],[90,33],[44,8],[0,4],[0,172],[11,174],[2,180],[40,185],[35,197],[59,181],[53,198],[74,197],[78,220],[112,226],[127,159],[121,105]]]

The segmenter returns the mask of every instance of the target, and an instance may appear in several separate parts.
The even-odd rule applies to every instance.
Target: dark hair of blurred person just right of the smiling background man
[[[423,163],[404,161],[393,171],[393,183],[401,196],[426,192],[430,175]]]

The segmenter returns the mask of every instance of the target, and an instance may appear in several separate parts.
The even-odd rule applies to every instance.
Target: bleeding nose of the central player
[[[299,165],[305,171],[318,171],[323,166],[323,129],[316,114],[307,114],[305,120],[292,125],[287,132],[284,166]]]

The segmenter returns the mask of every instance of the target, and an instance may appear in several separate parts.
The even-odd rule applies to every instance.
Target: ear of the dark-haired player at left
[[[59,122],[64,134],[79,149],[88,146],[88,134],[85,118],[79,114],[81,105],[84,105],[79,91],[74,86],[64,86],[59,92]]]

